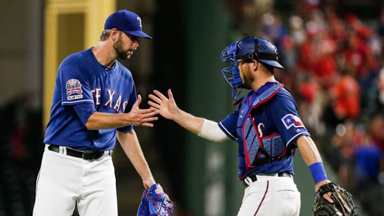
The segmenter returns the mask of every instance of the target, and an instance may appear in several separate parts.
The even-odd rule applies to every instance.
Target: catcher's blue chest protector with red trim
[[[250,91],[243,98],[236,125],[237,136],[241,140],[237,156],[239,179],[245,178],[249,169],[286,156],[287,149],[280,134],[260,137],[251,116],[253,109],[271,100],[282,87],[283,84],[278,83],[262,92],[258,97],[250,99],[249,97],[252,95],[252,91]]]

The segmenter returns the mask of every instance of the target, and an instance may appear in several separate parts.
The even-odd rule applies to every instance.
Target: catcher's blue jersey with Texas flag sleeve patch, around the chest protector
[[[249,98],[256,98],[273,85],[276,85],[276,83],[266,83],[257,89],[256,92],[252,90],[252,92],[246,96],[249,96]],[[242,106],[239,106],[238,109],[219,122],[219,127],[224,133],[236,142],[242,142],[242,140],[239,140],[242,138],[242,135],[238,135],[236,132],[236,123],[239,117],[243,118],[245,117],[244,115],[246,115],[244,112],[245,110],[240,110],[241,107]],[[255,127],[260,138],[273,134],[280,134],[281,139],[288,149],[292,149],[292,143],[300,136],[309,136],[309,133],[297,112],[295,100],[284,88],[279,90],[271,100],[255,108],[255,110],[252,111],[251,116],[254,119]],[[239,148],[244,147],[241,146]],[[239,161],[239,164],[241,164],[241,161]],[[292,157],[286,157],[282,160],[275,160],[268,164],[254,167],[249,169],[245,175],[250,176],[256,173],[268,174],[279,172],[290,172],[293,174]]]

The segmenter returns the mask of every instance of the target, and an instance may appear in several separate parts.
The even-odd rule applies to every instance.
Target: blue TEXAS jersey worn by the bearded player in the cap
[[[51,116],[44,143],[69,146],[77,150],[113,149],[116,129],[87,130],[74,105],[90,103],[94,111],[123,113],[136,102],[136,88],[131,71],[118,61],[106,68],[91,49],[66,57],[58,68]],[[118,128],[130,131],[133,126]]]

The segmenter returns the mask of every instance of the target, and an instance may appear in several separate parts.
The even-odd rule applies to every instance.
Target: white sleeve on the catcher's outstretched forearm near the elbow
[[[222,142],[229,139],[227,134],[220,129],[218,123],[205,118],[198,136],[213,142]]]

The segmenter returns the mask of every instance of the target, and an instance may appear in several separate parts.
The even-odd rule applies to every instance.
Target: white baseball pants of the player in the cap
[[[62,148],[62,147],[60,147]],[[70,216],[75,202],[81,216],[117,216],[116,178],[111,156],[88,161],[43,153],[36,181],[34,216]]]

